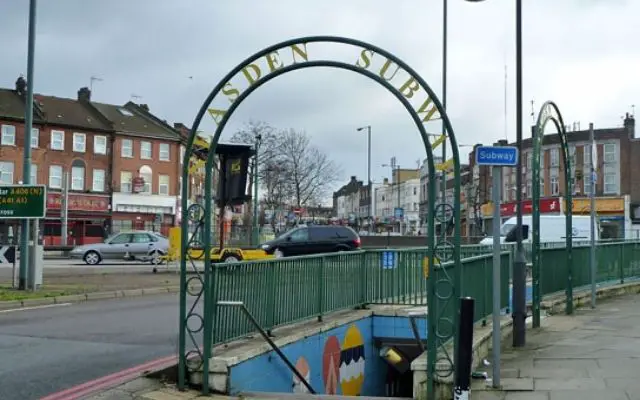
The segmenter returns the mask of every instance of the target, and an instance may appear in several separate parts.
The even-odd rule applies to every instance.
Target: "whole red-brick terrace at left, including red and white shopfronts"
[[[0,89],[0,184],[22,179],[26,82]],[[45,246],[61,238],[63,185],[69,189],[70,245],[102,241],[128,229],[167,233],[177,224],[180,134],[148,107],[34,95],[31,182],[47,186]],[[18,221],[0,220],[0,243],[17,237]]]

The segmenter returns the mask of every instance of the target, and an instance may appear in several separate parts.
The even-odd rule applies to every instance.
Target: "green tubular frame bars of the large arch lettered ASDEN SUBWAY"
[[[299,38],[299,39],[293,39],[293,40],[288,40],[270,47],[267,47],[263,50],[261,50],[260,52],[252,55],[251,57],[247,58],[246,60],[244,60],[242,63],[240,63],[238,66],[236,66],[233,70],[231,70],[219,83],[218,85],[216,85],[216,87],[211,91],[211,93],[209,94],[209,96],[206,98],[205,102],[203,103],[201,109],[199,110],[198,114],[196,115],[196,119],[192,125],[192,129],[189,135],[189,138],[187,140],[186,143],[186,152],[185,152],[185,157],[183,160],[183,165],[185,166],[184,170],[183,170],[183,180],[182,180],[182,245],[183,245],[183,251],[186,251],[186,247],[187,247],[187,224],[188,224],[188,217],[187,217],[187,205],[188,205],[188,198],[187,198],[187,193],[188,193],[188,170],[187,167],[189,165],[189,159],[192,155],[192,151],[193,151],[193,143],[195,140],[195,136],[196,136],[196,132],[199,128],[200,122],[202,121],[202,118],[204,117],[210,103],[213,101],[213,99],[221,92],[222,88],[224,87],[224,85],[226,83],[228,83],[235,75],[237,75],[239,72],[242,71],[242,69],[260,59],[261,57],[264,57],[265,55],[272,53],[274,51],[280,50],[282,48],[286,48],[292,45],[299,45],[299,44],[308,44],[308,43],[312,43],[312,42],[325,42],[325,43],[343,43],[343,44],[348,44],[348,45],[352,45],[352,46],[357,46],[357,47],[361,47],[363,49],[366,50],[370,50],[373,51],[374,53],[380,54],[384,57],[386,57],[388,60],[396,63],[400,68],[404,69],[413,79],[415,79],[415,81],[420,85],[420,87],[425,90],[425,92],[427,93],[427,95],[429,96],[429,98],[431,99],[431,101],[433,102],[433,105],[436,107],[436,109],[438,110],[438,112],[440,113],[441,118],[443,119],[444,122],[444,126],[445,129],[448,133],[448,137],[451,140],[451,146],[452,146],[452,150],[453,150],[453,158],[454,158],[454,174],[455,174],[455,189],[454,189],[454,207],[453,207],[453,211],[454,211],[454,221],[455,221],[455,242],[454,242],[454,251],[453,251],[453,261],[455,263],[456,266],[458,266],[458,268],[455,268],[455,278],[453,282],[450,282],[452,285],[452,296],[454,299],[457,298],[457,291],[458,291],[458,287],[459,287],[459,282],[460,282],[460,159],[459,159],[459,152],[458,152],[458,148],[457,148],[457,142],[455,139],[455,134],[453,132],[451,123],[446,115],[446,111],[444,110],[442,104],[440,103],[440,101],[438,100],[437,96],[435,95],[435,93],[433,92],[433,90],[431,90],[431,88],[429,87],[429,85],[427,85],[427,83],[412,69],[410,68],[406,63],[404,63],[402,60],[398,59],[397,57],[395,57],[393,54],[379,48],[373,45],[370,45],[368,43],[365,42],[361,42],[361,41],[357,41],[354,39],[349,39],[349,38],[342,38],[342,37],[333,37],[333,36],[314,36],[314,37],[307,37],[307,38]],[[413,109],[412,105],[409,103],[409,101],[402,95],[402,93],[396,89],[395,87],[393,87],[389,82],[387,82],[386,80],[384,80],[383,78],[379,77],[378,75],[360,68],[358,66],[352,65],[352,64],[347,64],[347,63],[343,63],[343,62],[338,62],[338,61],[328,61],[328,60],[320,60],[320,61],[306,61],[304,63],[299,63],[299,64],[293,64],[293,65],[289,65],[289,66],[285,66],[279,70],[276,70],[274,72],[269,73],[268,75],[262,77],[261,79],[259,79],[257,82],[255,82],[253,85],[249,86],[249,88],[247,88],[245,91],[243,91],[240,96],[231,104],[230,108],[226,111],[225,115],[223,116],[222,120],[220,121],[220,123],[218,124],[218,127],[216,129],[216,132],[214,133],[214,136],[212,138],[211,141],[211,145],[209,148],[209,156],[207,159],[207,165],[206,165],[206,173],[207,173],[207,179],[205,182],[205,216],[210,216],[211,215],[211,209],[212,209],[212,183],[211,183],[211,171],[212,171],[212,167],[213,167],[213,155],[215,154],[215,147],[217,144],[217,141],[222,133],[222,130],[226,124],[226,122],[228,121],[228,119],[231,117],[231,115],[233,114],[234,110],[242,103],[242,101],[244,99],[246,99],[246,97],[248,97],[254,90],[256,90],[258,87],[260,87],[261,85],[265,84],[266,82],[270,81],[271,79],[274,79],[277,76],[280,76],[284,73],[287,72],[291,72],[297,69],[303,69],[303,68],[310,68],[310,67],[333,67],[333,68],[340,68],[340,69],[345,69],[345,70],[350,70],[356,73],[359,73],[361,75],[364,75],[378,83],[380,83],[381,85],[383,85],[387,90],[389,90],[392,94],[394,94],[396,96],[396,98],[398,98],[398,100],[401,101],[401,103],[405,106],[405,108],[407,109],[407,111],[409,111],[409,113],[411,114],[414,122],[416,123],[423,142],[425,144],[425,149],[427,151],[427,156],[428,156],[428,167],[429,167],[429,189],[428,189],[428,196],[429,196],[429,204],[431,209],[433,210],[433,208],[435,207],[435,165],[433,162],[433,154],[432,154],[432,149],[431,149],[431,144],[428,140],[428,136],[426,134],[426,130],[422,124],[422,121],[420,119],[420,116],[417,114],[417,112]],[[428,224],[429,224],[429,231],[430,232],[435,232],[434,229],[434,213],[430,212],[429,213],[429,220],[428,220]],[[210,291],[212,288],[212,283],[211,283],[211,260],[210,260],[210,249],[211,249],[211,243],[210,243],[210,235],[211,235],[211,227],[210,227],[210,223],[209,221],[206,221],[206,223],[204,224],[204,237],[205,237],[205,241],[203,243],[204,245],[204,257],[205,257],[205,272],[204,272],[204,281],[202,281],[203,283],[203,287],[206,288],[206,291]],[[428,235],[428,245],[430,248],[430,252],[431,252],[431,259],[434,259],[434,253],[435,253],[435,237],[434,235]],[[185,350],[186,350],[186,343],[185,343],[185,339],[186,339],[186,333],[185,333],[185,329],[183,329],[184,325],[186,324],[186,292],[187,292],[187,287],[186,287],[186,257],[181,257],[181,291],[180,291],[180,324],[181,324],[181,329],[180,329],[180,337],[179,337],[179,347],[180,347],[180,364],[179,364],[179,383],[180,386],[184,387],[184,383],[185,383],[185,373],[186,373],[186,357],[185,355]],[[428,282],[428,301],[429,304],[435,304],[435,284],[434,282],[432,282],[432,280],[430,279]],[[206,390],[206,388],[208,387],[208,385],[206,384],[206,379],[208,378],[208,361],[209,358],[211,356],[211,345],[212,345],[212,339],[213,339],[213,326],[212,326],[212,321],[213,321],[213,314],[215,313],[215,304],[213,303],[213,299],[215,299],[215,294],[213,295],[207,295],[205,293],[205,310],[204,310],[204,314],[205,316],[207,316],[207,318],[205,318],[205,326],[204,326],[204,349],[203,352],[200,354],[203,358],[203,389]],[[437,307],[429,307],[429,317],[431,321],[438,321],[437,318],[437,314],[436,314],[436,310]],[[455,321],[454,321],[455,322]],[[436,328],[437,328],[437,323],[433,323],[433,324],[429,324],[429,335],[432,338],[435,338],[436,335]],[[189,333],[189,335],[191,335],[191,333]],[[192,338],[193,340],[193,338]],[[432,345],[434,346],[433,351],[429,351],[429,369],[430,372],[433,372],[433,370],[435,369],[435,355],[436,355],[436,348],[435,348],[435,340],[430,341],[430,343],[432,343]],[[430,377],[433,377],[433,373],[429,374]],[[433,379],[430,379],[430,385],[429,388],[430,390],[432,389],[432,383],[433,383]]]

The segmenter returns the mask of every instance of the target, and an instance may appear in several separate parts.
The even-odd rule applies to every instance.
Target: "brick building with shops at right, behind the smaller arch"
[[[543,213],[563,214],[569,206],[574,215],[590,213],[588,196],[590,195],[589,175],[591,144],[588,130],[568,132],[569,153],[572,160],[570,177],[574,201],[565,204],[565,173],[562,161],[560,138],[547,134],[542,141],[540,154],[540,208]],[[640,223],[640,175],[633,175],[640,157],[640,140],[635,137],[635,119],[627,114],[622,127],[595,129],[597,180],[596,211],[600,223],[602,237],[636,237]],[[506,145],[501,141],[498,145]],[[514,145],[513,143],[511,145]],[[531,197],[533,195],[533,150],[531,138],[522,144],[521,159],[523,162],[523,213],[531,213]],[[475,162],[473,153],[470,162]],[[635,161],[634,161],[635,160]],[[493,208],[491,199],[491,169],[472,164],[478,185],[478,202],[482,204],[480,217],[484,220],[484,230],[491,227]],[[635,177],[634,177],[635,176]],[[515,215],[515,168],[504,168],[502,176],[501,219]]]

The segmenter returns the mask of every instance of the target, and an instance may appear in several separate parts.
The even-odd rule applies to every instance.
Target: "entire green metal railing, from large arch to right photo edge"
[[[568,269],[564,248],[546,244],[541,250],[540,291],[543,296],[566,289]],[[463,249],[469,248],[464,246]],[[576,290],[591,282],[589,246],[574,247],[573,282]],[[501,304],[508,307],[512,245],[501,253]],[[490,250],[490,248],[489,248]],[[476,299],[475,319],[484,321],[492,311],[491,254],[475,246],[463,254],[461,296]],[[389,258],[389,254],[393,254]],[[212,296],[215,301],[241,301],[267,331],[309,318],[363,307],[367,304],[427,305],[424,260],[426,248],[362,250],[319,256],[290,257],[214,267]],[[597,282],[618,283],[640,277],[640,241],[609,242],[597,245]],[[450,279],[453,263],[430,266],[436,286]],[[446,296],[442,296],[446,297]],[[435,307],[449,321],[455,320],[455,301],[435,297]],[[443,319],[443,320],[445,320]],[[441,324],[443,337],[451,336],[453,324]],[[254,332],[255,328],[234,308],[216,310],[214,342],[228,342]]]

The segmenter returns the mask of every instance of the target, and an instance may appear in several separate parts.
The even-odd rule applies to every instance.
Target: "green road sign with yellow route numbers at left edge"
[[[46,201],[44,185],[0,185],[0,219],[44,218]]]

